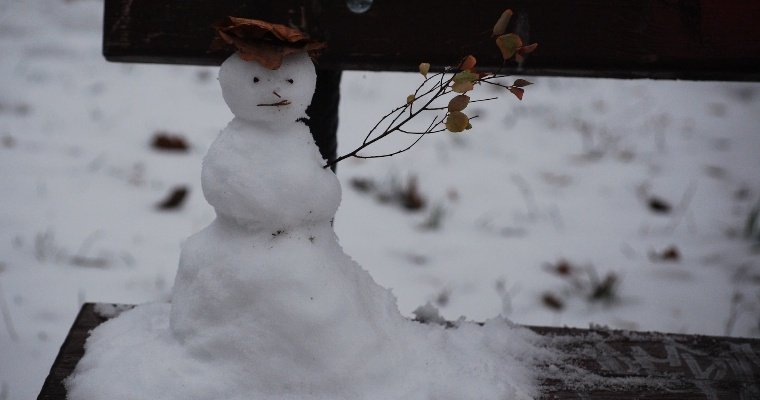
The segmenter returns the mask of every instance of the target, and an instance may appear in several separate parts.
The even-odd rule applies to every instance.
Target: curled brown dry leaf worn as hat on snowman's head
[[[298,29],[258,19],[227,17],[214,28],[219,37],[212,46],[231,45],[243,60],[269,69],[280,68],[288,54],[306,51],[313,57],[326,46]]]

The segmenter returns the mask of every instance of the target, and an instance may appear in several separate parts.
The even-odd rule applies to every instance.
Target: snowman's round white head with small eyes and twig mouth
[[[233,54],[219,70],[222,96],[232,113],[270,126],[289,124],[306,116],[316,79],[314,64],[306,52],[286,56],[275,70]]]

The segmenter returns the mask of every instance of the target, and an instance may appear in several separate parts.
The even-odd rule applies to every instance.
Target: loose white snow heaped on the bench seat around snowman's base
[[[399,336],[410,338],[414,331],[422,334],[417,340],[397,343],[404,345],[404,351],[357,355],[361,362],[341,379],[329,379],[326,371],[315,368],[317,361],[309,356],[318,348],[294,354],[302,364],[292,370],[278,368],[277,360],[267,368],[259,364],[261,359],[231,368],[227,357],[198,357],[168,335],[169,308],[166,303],[142,305],[96,329],[71,382],[69,398],[525,399],[534,393],[514,386],[530,388],[535,378],[522,365],[553,357],[534,352],[540,341],[535,335],[522,330],[505,335],[515,328],[503,319],[483,327],[462,324],[454,330],[406,321],[409,330],[398,332]],[[264,357],[271,362],[268,355]]]

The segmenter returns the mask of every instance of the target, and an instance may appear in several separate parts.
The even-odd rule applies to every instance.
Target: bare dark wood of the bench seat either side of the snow
[[[62,381],[104,318],[87,303],[77,316],[38,400],[64,400]],[[529,327],[582,371],[547,366],[543,399],[760,399],[760,339]],[[585,382],[579,386],[579,382]]]

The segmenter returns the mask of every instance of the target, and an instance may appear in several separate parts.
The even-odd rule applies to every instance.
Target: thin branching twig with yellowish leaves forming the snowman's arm
[[[512,10],[504,11],[494,25],[492,38],[495,38],[496,46],[501,51],[504,64],[514,59],[522,63],[525,57],[536,50],[538,44],[533,43],[524,45],[523,40],[515,33],[505,33],[509,21],[512,17]],[[468,95],[475,90],[476,86],[483,84],[498,86],[508,90],[519,100],[522,100],[525,93],[524,87],[531,85],[525,79],[517,79],[512,84],[504,83],[504,78],[509,75],[495,73],[479,72],[475,69],[477,60],[473,55],[464,57],[456,67],[446,67],[441,72],[430,74],[430,64],[421,63],[419,65],[420,74],[423,77],[422,83],[419,84],[414,93],[406,98],[406,102],[385,114],[367,133],[362,143],[354,150],[346,153],[328,162],[324,167],[329,168],[347,158],[381,158],[390,157],[403,153],[414,147],[422,140],[423,137],[449,131],[463,132],[471,129],[471,120],[476,116],[468,116],[464,110],[470,103],[495,100],[496,97],[471,99]],[[442,99],[449,94],[456,95],[449,99],[445,104]],[[444,105],[445,104],[445,105]],[[411,124],[416,121],[417,117],[434,114],[430,123],[424,129],[414,128]],[[375,155],[360,154],[367,147],[388,137],[394,133],[403,133],[407,135],[416,135],[417,138],[408,146],[401,149]]]

